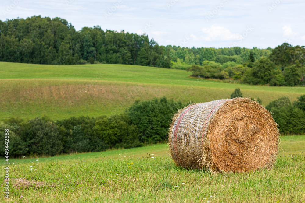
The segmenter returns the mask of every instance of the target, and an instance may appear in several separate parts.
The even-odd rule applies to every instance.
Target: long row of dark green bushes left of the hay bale
[[[136,101],[120,115],[71,117],[52,121],[47,117],[23,121],[10,118],[0,123],[9,129],[11,156],[96,152],[111,148],[132,148],[163,142],[173,114],[184,105],[167,100]],[[4,141],[4,133],[1,138]],[[4,149],[0,153],[4,155]]]

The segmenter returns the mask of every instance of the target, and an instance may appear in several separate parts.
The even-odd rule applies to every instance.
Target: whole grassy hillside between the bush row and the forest
[[[292,101],[304,87],[251,86],[189,77],[183,70],[134,65],[36,65],[0,62],[0,120],[47,115],[52,119],[121,113],[135,100],[166,96],[182,102],[229,98],[235,88],[263,104]]]

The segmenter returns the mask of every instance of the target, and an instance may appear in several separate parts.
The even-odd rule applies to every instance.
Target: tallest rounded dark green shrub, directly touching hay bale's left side
[[[184,105],[167,100],[136,101],[128,109],[131,124],[138,127],[141,142],[156,143],[166,139],[167,130],[174,113]]]

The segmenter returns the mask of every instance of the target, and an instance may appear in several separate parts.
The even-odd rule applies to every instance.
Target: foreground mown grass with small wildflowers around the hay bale
[[[21,201],[21,195],[23,202],[304,202],[305,157],[304,145],[295,145],[299,139],[305,136],[282,137],[285,152],[274,169],[250,173],[185,170],[174,165],[166,144],[102,156],[11,159],[8,202]],[[299,152],[290,155],[289,145]]]

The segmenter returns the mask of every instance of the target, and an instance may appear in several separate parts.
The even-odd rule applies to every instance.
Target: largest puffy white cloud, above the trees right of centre
[[[203,33],[206,35],[203,36],[203,39],[206,41],[212,41],[212,40],[236,40],[241,35],[239,33],[231,33],[231,31],[224,26],[211,26],[210,28],[202,28]]]

